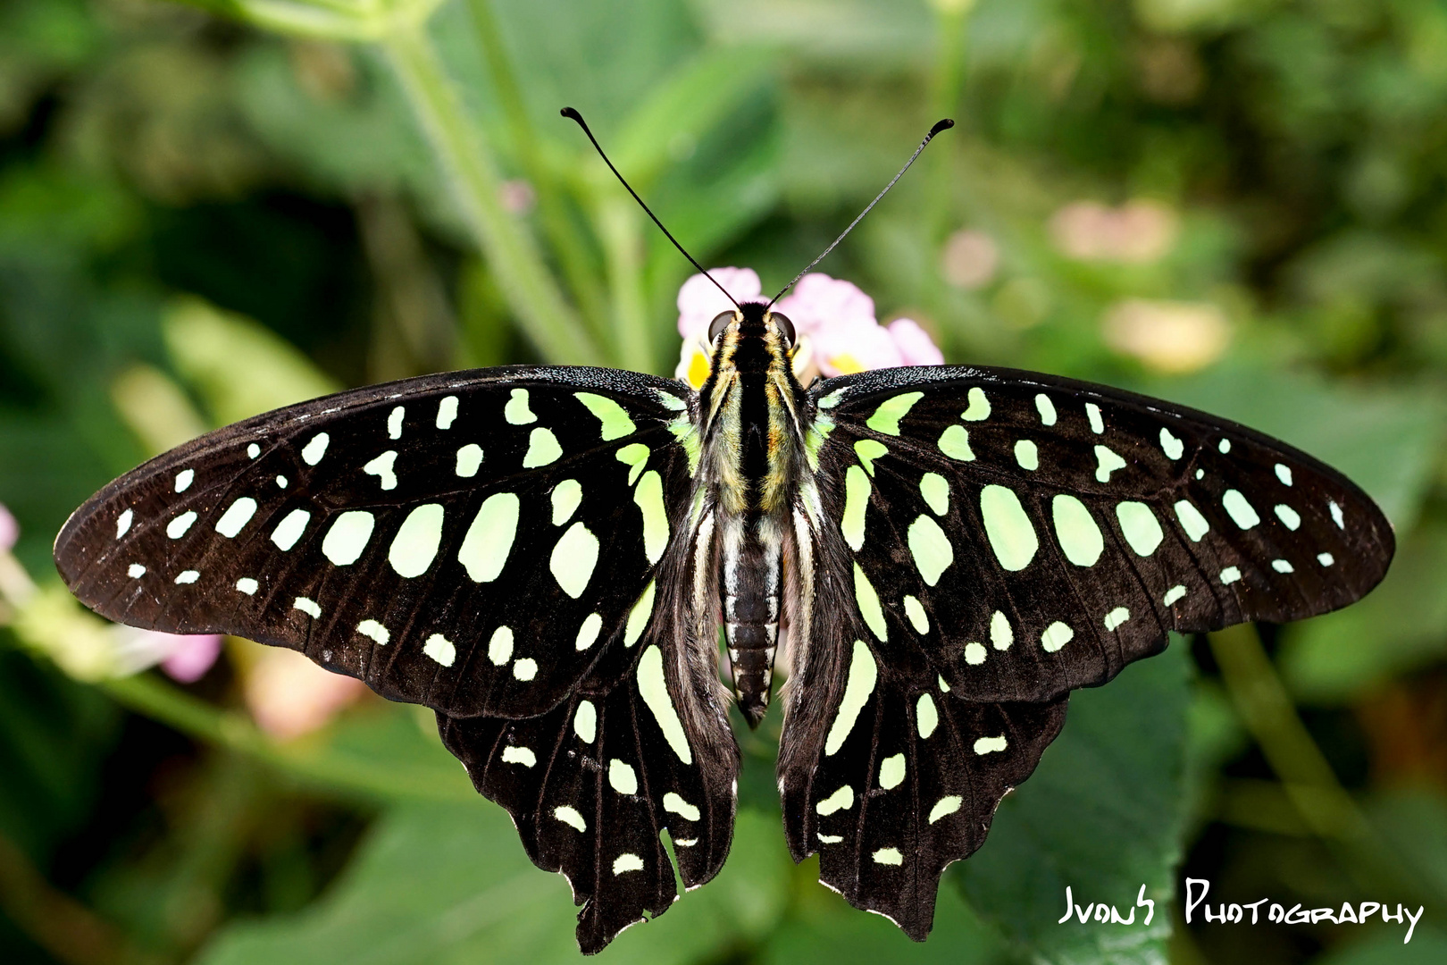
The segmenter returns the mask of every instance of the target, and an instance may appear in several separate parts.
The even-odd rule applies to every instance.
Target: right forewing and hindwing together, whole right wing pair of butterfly
[[[818,851],[822,881],[916,939],[1072,687],[1169,629],[1343,606],[1391,561],[1391,527],[1338,473],[1163,402],[965,367],[812,396],[786,830],[796,859]]]

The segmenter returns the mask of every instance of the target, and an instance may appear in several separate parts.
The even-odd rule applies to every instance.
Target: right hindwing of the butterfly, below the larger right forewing
[[[819,854],[819,880],[923,940],[939,877],[968,856],[1000,800],[1029,777],[1065,723],[1068,696],[964,700],[919,641],[861,608],[851,557],[828,522],[842,495],[820,488],[823,527],[796,553],[807,622],[790,626],[778,787],[794,861]],[[806,514],[796,514],[800,530]]]

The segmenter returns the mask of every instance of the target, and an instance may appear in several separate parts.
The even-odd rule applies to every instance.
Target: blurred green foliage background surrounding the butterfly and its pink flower
[[[955,117],[820,271],[949,362],[1279,435],[1399,544],[1346,612],[1072,697],[926,945],[789,861],[771,715],[724,874],[605,959],[1447,961],[1434,0],[0,0],[0,959],[577,961],[566,883],[428,713],[107,626],[49,560],[109,479],[276,405],[511,362],[671,373],[690,269],[563,104],[765,291]],[[1380,914],[1187,924],[1187,875],[1213,909],[1427,911],[1406,946]],[[1061,924],[1065,885],[1153,920]]]

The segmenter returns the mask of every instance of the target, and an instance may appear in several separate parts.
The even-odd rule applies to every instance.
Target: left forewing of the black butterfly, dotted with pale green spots
[[[123,624],[291,647],[444,713],[534,715],[637,654],[612,644],[686,508],[686,408],[608,369],[344,392],[122,476],[55,560]]]

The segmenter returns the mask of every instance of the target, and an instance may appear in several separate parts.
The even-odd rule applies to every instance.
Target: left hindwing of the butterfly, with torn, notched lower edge
[[[728,855],[738,747],[708,632],[712,599],[699,606],[686,579],[697,548],[679,540],[670,550],[655,616],[621,681],[589,676],[557,707],[522,720],[438,713],[447,748],[512,815],[528,856],[567,875],[586,953],[676,900],[664,829],[684,887],[712,878]]]

